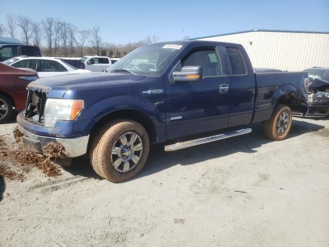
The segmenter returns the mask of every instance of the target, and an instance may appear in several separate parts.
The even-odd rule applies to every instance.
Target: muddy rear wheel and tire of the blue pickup
[[[283,140],[288,135],[292,122],[290,108],[285,104],[278,104],[271,118],[264,122],[265,137],[271,140]]]

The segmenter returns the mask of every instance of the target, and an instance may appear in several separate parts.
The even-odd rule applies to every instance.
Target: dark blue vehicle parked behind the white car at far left
[[[4,44],[0,45],[0,62],[19,56],[41,57],[41,51],[35,45]]]

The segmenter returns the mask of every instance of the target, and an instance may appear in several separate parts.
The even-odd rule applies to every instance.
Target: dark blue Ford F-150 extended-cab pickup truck
[[[109,181],[140,172],[151,144],[174,151],[247,134],[284,139],[291,110],[306,114],[307,73],[255,73],[242,45],[178,41],[143,45],[103,73],[66,75],[28,85],[17,116],[26,148],[47,155],[59,143],[89,155]]]

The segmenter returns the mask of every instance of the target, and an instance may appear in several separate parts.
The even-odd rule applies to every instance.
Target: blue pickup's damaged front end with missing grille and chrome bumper
[[[68,136],[72,122],[63,121],[60,128],[45,125],[45,108],[47,95],[51,87],[30,83],[27,87],[26,110],[17,115],[18,130],[24,146],[31,151],[59,159],[81,156],[86,153],[89,135]],[[17,131],[16,131],[17,132]],[[56,151],[57,150],[57,151]],[[55,152],[56,151],[56,152]]]

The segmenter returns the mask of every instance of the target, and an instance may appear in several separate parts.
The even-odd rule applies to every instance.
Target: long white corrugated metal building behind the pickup
[[[288,71],[329,67],[329,32],[254,29],[193,40],[242,44],[253,67]]]

